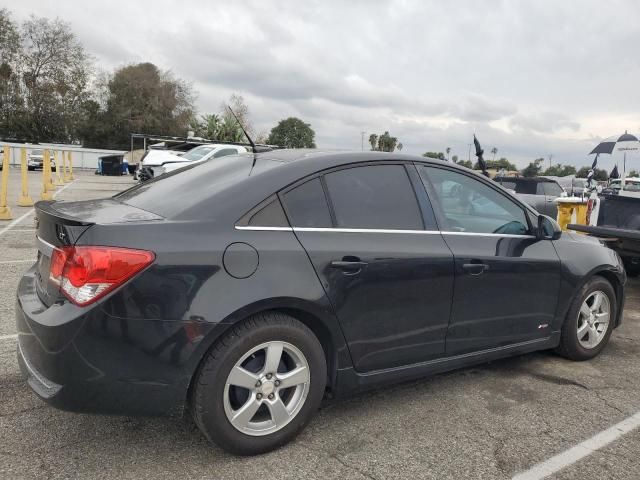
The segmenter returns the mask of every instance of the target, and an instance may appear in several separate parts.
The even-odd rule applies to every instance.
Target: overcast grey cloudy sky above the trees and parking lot
[[[583,165],[640,133],[640,8],[629,1],[45,1],[99,68],[151,61],[193,83],[200,112],[243,95],[254,127],[298,116],[323,148],[389,130],[405,151],[475,132],[515,160]],[[489,155],[491,158],[491,155]],[[602,158],[605,167],[619,159]],[[640,158],[633,159],[640,164]]]

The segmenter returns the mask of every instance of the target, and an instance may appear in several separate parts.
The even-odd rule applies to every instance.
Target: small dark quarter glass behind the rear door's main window
[[[331,214],[319,178],[314,178],[283,195],[293,227],[330,228]]]

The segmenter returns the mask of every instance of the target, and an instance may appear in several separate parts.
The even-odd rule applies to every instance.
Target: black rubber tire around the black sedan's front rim
[[[578,313],[583,302],[594,292],[603,292],[609,300],[609,324],[603,339],[593,348],[586,348],[578,341]],[[591,360],[598,356],[600,352],[607,346],[611,332],[613,331],[614,321],[617,318],[618,303],[616,301],[616,293],[611,283],[600,276],[591,277],[580,289],[576,297],[571,303],[567,318],[565,318],[562,326],[560,337],[560,345],[555,349],[559,355],[575,361]]]

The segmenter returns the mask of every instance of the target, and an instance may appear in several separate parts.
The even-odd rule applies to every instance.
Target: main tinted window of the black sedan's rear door
[[[422,230],[424,224],[403,165],[368,165],[324,177],[336,227]]]

